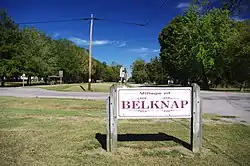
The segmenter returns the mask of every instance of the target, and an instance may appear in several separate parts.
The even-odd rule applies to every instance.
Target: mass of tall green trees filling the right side
[[[206,8],[204,8],[206,9]],[[246,87],[250,84],[250,21],[236,21],[227,8],[192,5],[161,30],[160,54],[132,64],[137,83]]]

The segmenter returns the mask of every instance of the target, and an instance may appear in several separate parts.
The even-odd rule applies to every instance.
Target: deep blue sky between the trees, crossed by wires
[[[137,58],[148,61],[159,55],[158,34],[169,21],[182,13],[191,0],[1,0],[15,22],[33,22],[89,17],[144,23],[140,27],[122,23],[94,21],[93,57],[127,68]],[[34,26],[54,39],[67,38],[88,48],[89,22],[61,22]],[[23,27],[23,26],[22,26]]]

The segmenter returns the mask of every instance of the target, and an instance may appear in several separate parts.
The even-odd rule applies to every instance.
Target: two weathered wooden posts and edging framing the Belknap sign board
[[[194,153],[199,153],[202,148],[202,118],[201,118],[202,111],[201,111],[200,87],[196,83],[192,84],[192,86],[190,87],[191,87],[191,117],[184,117],[184,118],[191,119],[191,123],[190,123],[191,150]],[[118,120],[125,119],[125,118],[121,119],[120,117],[118,117],[118,103],[117,102],[118,102],[118,90],[120,88],[128,88],[128,87],[126,86],[118,87],[118,85],[112,85],[110,87],[110,96],[106,100],[106,111],[107,111],[106,147],[107,147],[108,152],[116,152],[117,137],[118,137],[118,134],[117,134]],[[139,87],[139,88],[143,90],[143,88],[146,88],[146,87]],[[161,87],[157,87],[157,88],[160,89]],[[166,88],[166,87],[162,87],[162,88]],[[174,88],[180,88],[180,87],[169,87],[169,88],[174,89]],[[153,119],[155,117],[149,117],[149,118]],[[160,117],[160,118],[164,118],[164,117]],[[133,119],[133,118],[126,118],[126,119]]]

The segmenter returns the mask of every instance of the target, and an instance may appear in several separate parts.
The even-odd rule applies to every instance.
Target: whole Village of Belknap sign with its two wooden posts
[[[200,87],[118,87],[110,88],[106,100],[107,151],[117,149],[119,119],[190,118],[192,151],[202,146]]]

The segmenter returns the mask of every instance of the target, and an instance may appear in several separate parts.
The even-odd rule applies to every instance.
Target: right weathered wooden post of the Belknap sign
[[[192,87],[191,146],[194,153],[199,153],[202,147],[200,87],[197,84],[192,84]]]

